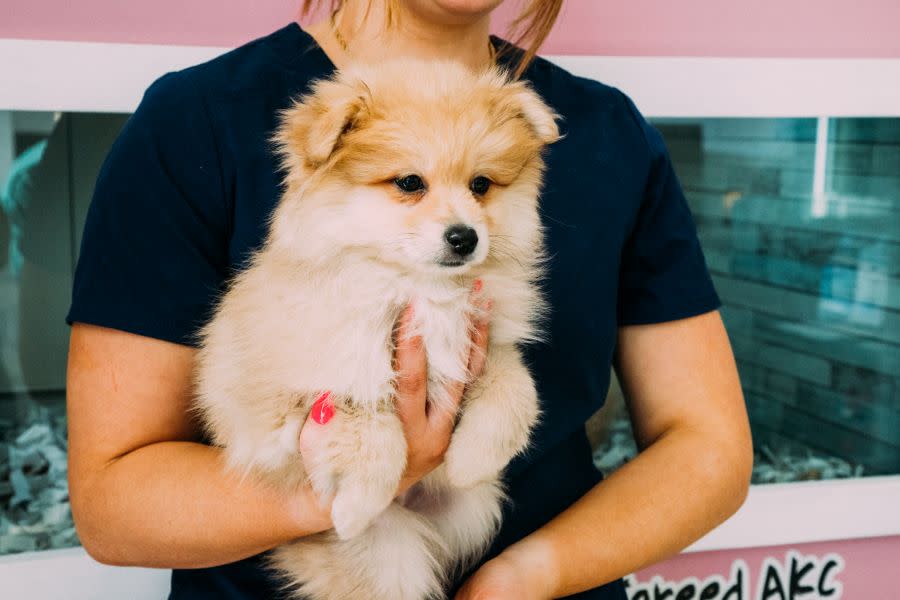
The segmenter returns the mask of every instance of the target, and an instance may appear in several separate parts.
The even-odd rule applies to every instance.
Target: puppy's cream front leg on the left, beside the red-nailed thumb
[[[362,533],[393,501],[406,469],[406,438],[389,407],[335,403],[323,447],[306,459],[313,489],[333,496],[331,518],[341,539]]]

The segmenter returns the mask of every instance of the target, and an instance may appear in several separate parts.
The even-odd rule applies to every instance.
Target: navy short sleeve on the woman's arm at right
[[[665,143],[625,98],[647,142],[647,181],[620,263],[618,323],[660,323],[719,308],[693,216]]]

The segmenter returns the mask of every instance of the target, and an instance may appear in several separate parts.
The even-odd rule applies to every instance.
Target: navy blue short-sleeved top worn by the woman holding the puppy
[[[194,343],[278,201],[278,111],[333,70],[291,24],[154,83],[98,178],[67,321]],[[524,77],[562,116],[541,196],[552,313],[549,342],[526,351],[543,420],[507,470],[511,501],[489,556],[601,480],[584,422],[606,396],[617,328],[719,306],[659,133],[614,88],[542,59]],[[256,557],[176,570],[171,598],[273,598],[276,585]],[[615,582],[577,597],[625,592]]]

